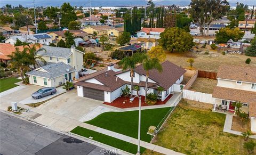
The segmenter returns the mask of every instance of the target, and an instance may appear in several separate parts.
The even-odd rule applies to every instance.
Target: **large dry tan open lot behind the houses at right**
[[[207,45],[209,46],[209,45]],[[201,49],[201,48],[200,48]],[[204,49],[204,48],[202,48]],[[206,49],[204,49],[206,51]],[[222,64],[226,65],[239,65],[239,66],[256,66],[256,57],[250,57],[240,54],[226,54],[222,55],[221,52],[211,52],[210,54],[204,54],[202,52],[189,52],[189,53],[166,53],[166,60],[177,64],[183,68],[189,68],[189,63],[187,60],[189,58],[194,58],[195,62],[193,68],[204,71],[217,72],[219,66]],[[215,56],[218,55],[218,56]],[[250,58],[252,61],[250,64],[246,64],[245,60]]]

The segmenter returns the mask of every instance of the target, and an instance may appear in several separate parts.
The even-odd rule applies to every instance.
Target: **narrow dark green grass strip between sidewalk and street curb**
[[[93,137],[92,140],[94,141],[98,141],[98,142],[113,146],[114,148],[121,149],[133,154],[137,153],[137,145],[119,140],[117,138],[114,138],[105,134],[94,132],[93,130],[90,130],[90,129],[77,126],[73,130],[71,130],[71,133],[75,133],[77,135],[81,135],[87,138],[91,136]],[[141,153],[145,150],[146,150],[145,148],[140,147]]]

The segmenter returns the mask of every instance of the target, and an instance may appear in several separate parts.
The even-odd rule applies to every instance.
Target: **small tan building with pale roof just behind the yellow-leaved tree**
[[[152,47],[158,45],[158,41],[160,39],[159,35],[147,35],[138,37],[137,42],[144,44],[144,48],[150,50]]]

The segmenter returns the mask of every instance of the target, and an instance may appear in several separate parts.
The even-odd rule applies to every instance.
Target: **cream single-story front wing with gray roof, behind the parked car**
[[[26,75],[31,85],[58,87],[66,81],[73,81],[75,71],[69,64],[59,62],[26,72]]]

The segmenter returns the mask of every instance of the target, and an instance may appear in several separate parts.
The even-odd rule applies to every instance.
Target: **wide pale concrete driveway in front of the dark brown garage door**
[[[41,104],[36,109],[51,112],[70,119],[79,120],[102,105],[102,101],[77,96],[77,90],[64,93]]]

